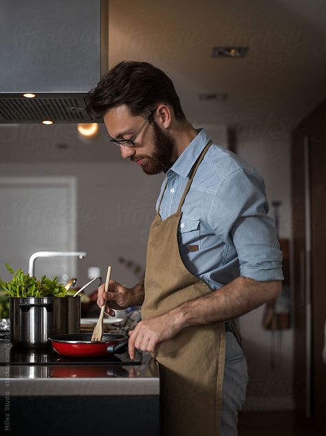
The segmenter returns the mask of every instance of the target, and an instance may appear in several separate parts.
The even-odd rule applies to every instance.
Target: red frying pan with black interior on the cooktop
[[[128,349],[128,338],[116,333],[104,333],[101,341],[91,341],[92,333],[55,335],[49,340],[57,353],[67,357],[107,357]]]

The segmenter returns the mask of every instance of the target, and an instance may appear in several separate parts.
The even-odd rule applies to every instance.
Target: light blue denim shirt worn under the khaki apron
[[[208,143],[204,129],[166,172],[160,205],[162,220],[174,214],[189,172]],[[276,226],[268,216],[263,179],[238,156],[210,145],[182,206],[180,255],[188,271],[219,289],[241,276],[282,280],[282,253]]]

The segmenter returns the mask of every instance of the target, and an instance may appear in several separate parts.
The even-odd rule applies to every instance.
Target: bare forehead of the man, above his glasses
[[[142,117],[131,115],[127,105],[120,105],[110,109],[103,120],[109,135],[117,138],[121,134],[133,132],[133,129],[142,121]]]

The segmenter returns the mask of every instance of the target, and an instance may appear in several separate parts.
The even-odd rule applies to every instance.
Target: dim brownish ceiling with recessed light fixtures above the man
[[[325,19],[325,0],[110,0],[109,67],[140,60],[162,68],[195,127],[286,133],[326,96]],[[215,45],[249,50],[243,59],[213,59]],[[216,92],[228,99],[199,101]],[[80,141],[75,125],[0,132],[2,161],[120,159],[104,125],[93,143]]]

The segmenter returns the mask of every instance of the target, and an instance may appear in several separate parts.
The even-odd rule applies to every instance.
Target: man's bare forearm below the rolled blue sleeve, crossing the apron
[[[281,292],[281,281],[258,282],[240,276],[217,291],[180,304],[171,316],[183,329],[195,324],[225,321],[272,302]]]

